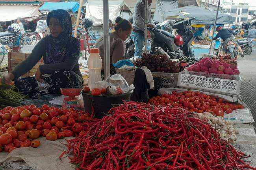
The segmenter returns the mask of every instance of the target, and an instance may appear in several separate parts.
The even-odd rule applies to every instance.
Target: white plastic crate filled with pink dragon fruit
[[[186,87],[191,89],[202,89],[212,92],[236,94],[239,95],[241,88],[241,77],[233,75],[222,75],[222,74],[208,74],[208,76],[200,76],[195,74],[189,74],[191,72],[182,71],[178,76],[178,86]],[[199,74],[199,72],[197,72]],[[205,73],[204,73],[205,74]],[[207,73],[206,73],[207,74]],[[227,78],[234,79],[223,79],[213,78],[210,76],[227,76]]]

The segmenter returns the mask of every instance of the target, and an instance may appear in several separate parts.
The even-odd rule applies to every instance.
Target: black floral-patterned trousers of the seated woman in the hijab
[[[60,88],[76,88],[83,85],[82,77],[74,71],[54,71],[49,76],[43,75],[42,79],[49,84],[47,91],[36,89],[38,82],[35,80],[35,77],[18,78],[14,83],[20,91],[30,96],[30,98],[45,94],[60,94]]]

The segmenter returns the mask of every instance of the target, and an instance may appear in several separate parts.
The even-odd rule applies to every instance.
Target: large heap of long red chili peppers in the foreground
[[[77,169],[254,169],[249,156],[179,107],[128,102],[108,114],[82,123],[86,134],[68,141],[63,154]]]

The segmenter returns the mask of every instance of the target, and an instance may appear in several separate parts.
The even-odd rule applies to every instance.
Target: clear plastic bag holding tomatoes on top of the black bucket
[[[121,74],[109,76],[106,81],[111,86],[109,89],[111,94],[123,94],[129,92],[129,85]]]

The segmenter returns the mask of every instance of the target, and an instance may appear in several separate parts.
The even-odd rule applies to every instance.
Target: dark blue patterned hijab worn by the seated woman
[[[61,63],[67,57],[67,47],[71,43],[72,22],[70,14],[63,10],[57,9],[48,13],[46,22],[49,26],[50,18],[56,18],[61,25],[62,31],[57,38],[48,36],[46,42],[45,64]]]

